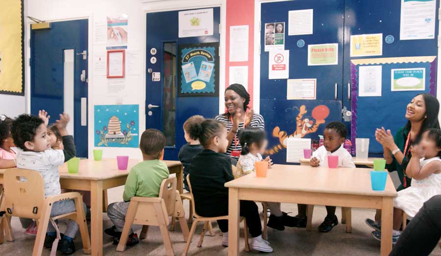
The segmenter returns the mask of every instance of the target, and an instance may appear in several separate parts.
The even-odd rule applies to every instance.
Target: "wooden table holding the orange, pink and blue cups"
[[[389,175],[386,189],[377,192],[371,190],[369,169],[274,165],[266,178],[251,173],[225,187],[229,188],[229,256],[239,254],[239,200],[382,209],[381,255],[392,250],[393,197],[397,193]]]

